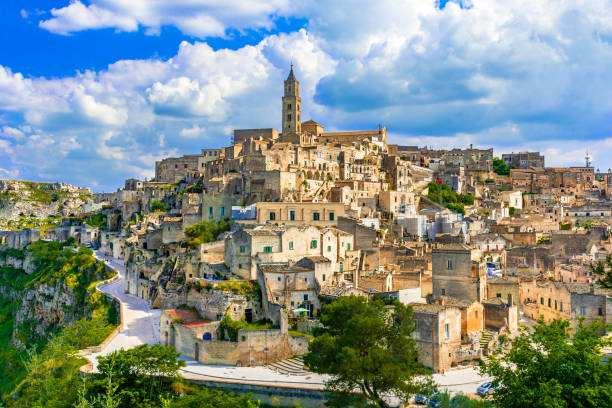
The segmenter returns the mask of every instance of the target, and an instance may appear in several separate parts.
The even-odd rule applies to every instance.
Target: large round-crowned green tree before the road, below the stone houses
[[[321,323],[324,328],[315,331],[304,362],[310,370],[330,375],[330,393],[351,398],[358,389],[369,403],[387,408],[385,396],[408,401],[431,386],[429,370],[417,362],[411,308],[343,296],[323,306]]]

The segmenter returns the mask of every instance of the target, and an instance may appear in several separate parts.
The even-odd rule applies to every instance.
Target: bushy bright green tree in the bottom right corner
[[[571,341],[567,320],[524,330],[505,350],[483,362],[481,372],[498,387],[496,407],[590,408],[612,406],[612,365],[602,361],[610,345],[601,323],[579,323]]]

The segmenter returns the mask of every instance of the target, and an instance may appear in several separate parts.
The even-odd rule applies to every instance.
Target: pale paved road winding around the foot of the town
[[[119,349],[130,349],[141,344],[159,342],[160,310],[151,310],[147,301],[128,295],[125,292],[125,267],[121,260],[109,258],[96,252],[96,258],[104,260],[117,271],[120,278],[115,282],[100,287],[105,293],[116,296],[123,305],[123,330],[100,353],[89,356],[97,367],[97,357]],[[183,358],[187,366],[181,369],[181,375],[189,379],[230,381],[244,384],[265,384],[284,387],[323,389],[325,376],[311,374],[306,376],[289,376],[265,367],[234,367],[201,364]],[[473,368],[450,371],[446,374],[435,374],[434,380],[452,393],[475,393],[476,388],[485,382]]]

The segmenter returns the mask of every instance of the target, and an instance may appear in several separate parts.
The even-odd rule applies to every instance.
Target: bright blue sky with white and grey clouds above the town
[[[4,0],[0,178],[113,191],[303,117],[612,167],[611,0]]]

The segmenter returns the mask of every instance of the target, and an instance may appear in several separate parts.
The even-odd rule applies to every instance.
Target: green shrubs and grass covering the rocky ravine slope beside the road
[[[94,289],[95,282],[108,279],[111,274],[96,262],[90,250],[81,248],[74,251],[66,243],[38,241],[31,244],[27,251],[32,254],[36,268],[34,273],[28,275],[22,270],[0,268],[0,287],[3,289],[3,296],[0,297],[0,393],[10,392],[29,370],[47,367],[49,359],[54,359],[57,353],[68,353],[66,349],[100,343],[118,321],[115,305]],[[3,256],[23,259],[26,254],[9,249],[0,252],[0,257]],[[81,320],[74,326],[50,326],[44,335],[35,330],[40,325],[39,321],[26,320],[15,327],[15,315],[22,307],[25,293],[37,290],[42,284],[58,290],[63,285],[70,288],[75,303],[64,313],[74,313]],[[26,350],[14,347],[13,337]],[[27,361],[25,365],[24,360]],[[76,367],[72,359],[67,359],[65,363],[61,370],[70,371]],[[53,364],[51,366],[55,367]]]

